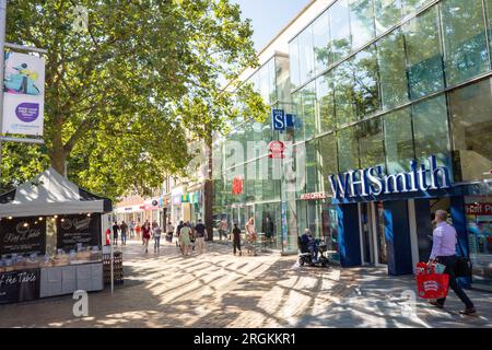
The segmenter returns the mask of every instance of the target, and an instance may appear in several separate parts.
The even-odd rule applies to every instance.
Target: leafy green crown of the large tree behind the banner
[[[159,186],[190,160],[190,137],[237,114],[221,81],[257,65],[239,15],[229,0],[9,1],[8,40],[48,50],[46,148],[33,152],[112,198]]]

